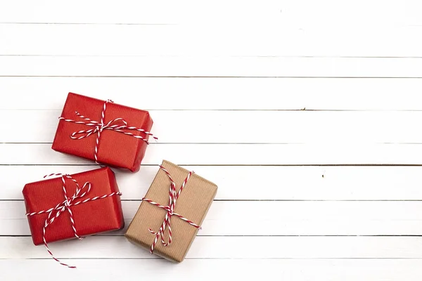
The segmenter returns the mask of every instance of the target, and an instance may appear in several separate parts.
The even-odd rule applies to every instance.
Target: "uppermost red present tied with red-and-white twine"
[[[69,93],[53,150],[138,171],[153,126],[148,111]]]

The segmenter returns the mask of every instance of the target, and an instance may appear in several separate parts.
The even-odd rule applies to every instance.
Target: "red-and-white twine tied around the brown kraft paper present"
[[[179,191],[176,192],[176,183],[174,183],[172,176],[163,166],[160,166],[160,168],[163,171],[165,171],[165,174],[167,174],[167,176],[170,178],[171,183],[170,183],[170,192],[169,192],[169,204],[167,206],[162,206],[161,204],[153,202],[152,200],[149,200],[145,197],[142,198],[143,201],[149,202],[149,203],[153,204],[154,206],[160,207],[161,209],[165,209],[165,211],[167,211],[167,213],[165,214],[164,221],[162,222],[162,225],[157,232],[154,232],[153,230],[151,230],[151,228],[148,228],[149,232],[152,233],[153,235],[155,235],[154,242],[153,242],[153,244],[151,244],[151,249],[150,249],[151,254],[153,254],[155,244],[157,244],[157,242],[158,242],[158,238],[161,238],[161,243],[164,246],[168,246],[170,243],[172,243],[172,227],[170,225],[170,218],[172,218],[172,216],[177,216],[182,221],[186,221],[186,223],[190,224],[191,226],[200,229],[200,226],[198,226],[196,223],[193,223],[193,221],[190,221],[190,220],[188,220],[188,218],[185,218],[184,216],[181,216],[177,213],[174,213],[174,207],[176,207],[177,199],[179,198],[181,191],[184,189],[184,186],[186,185],[189,178],[191,177],[191,175],[194,172],[193,171],[189,172],[188,176],[185,178],[185,180],[181,184]],[[167,227],[168,227],[168,230],[169,230],[169,240],[167,242],[165,242],[164,232],[165,232],[165,229]]]

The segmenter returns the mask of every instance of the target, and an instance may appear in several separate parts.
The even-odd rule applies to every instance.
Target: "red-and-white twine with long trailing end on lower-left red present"
[[[55,261],[60,263],[62,266],[67,266],[68,268],[76,268],[76,266],[69,266],[68,264],[61,262],[55,256],[53,256],[53,253],[51,253],[51,251],[49,249],[49,245],[47,244],[47,241],[46,241],[46,228],[51,226],[51,224],[54,222],[54,220],[56,218],[58,218],[60,216],[60,214],[63,214],[64,211],[68,211],[73,233],[74,233],[75,237],[77,237],[77,239],[82,240],[82,239],[84,239],[84,237],[80,237],[77,234],[77,230],[76,230],[76,227],[75,227],[75,220],[73,219],[73,214],[72,214],[72,210],[70,209],[70,207],[76,206],[76,205],[79,205],[79,204],[83,204],[83,203],[86,203],[86,202],[94,201],[94,200],[103,199],[103,198],[106,198],[106,197],[115,196],[115,195],[120,196],[120,195],[122,195],[122,192],[112,192],[110,194],[106,194],[106,195],[102,195],[102,196],[96,196],[96,197],[92,197],[92,198],[87,198],[87,199],[75,202],[77,199],[84,197],[85,195],[87,195],[91,191],[91,183],[89,183],[87,181],[86,183],[84,183],[84,185],[82,185],[82,188],[79,188],[79,183],[75,180],[75,178],[72,178],[72,176],[70,176],[68,174],[49,174],[47,176],[44,176],[44,178],[50,177],[50,176],[60,176],[61,177],[63,194],[65,196],[65,200],[61,203],[58,203],[56,205],[56,207],[46,209],[46,210],[42,210],[42,211],[34,211],[32,213],[27,213],[26,215],[27,216],[35,216],[35,215],[39,215],[39,214],[49,214],[49,216],[46,218],[46,221],[44,222],[44,227],[42,228],[42,240],[44,242],[44,245],[46,246],[46,249],[49,252],[50,256]],[[66,178],[69,179],[70,181],[73,181],[76,184],[76,191],[75,191],[75,194],[72,195],[72,197],[68,197],[68,194],[66,192],[66,182],[65,182]],[[87,189],[87,190],[84,191],[84,189]]]

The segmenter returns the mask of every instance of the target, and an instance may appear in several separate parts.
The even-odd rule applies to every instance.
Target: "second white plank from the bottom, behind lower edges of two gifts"
[[[421,259],[422,237],[215,237],[198,236],[188,259]],[[174,243],[176,241],[173,241]],[[0,237],[0,259],[48,258],[31,237]],[[51,243],[58,258],[148,259],[146,249],[119,236]],[[51,261],[54,262],[54,261]]]

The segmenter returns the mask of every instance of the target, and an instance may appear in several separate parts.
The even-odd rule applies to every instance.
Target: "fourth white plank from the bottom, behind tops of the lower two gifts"
[[[0,166],[0,200],[21,200],[26,183],[95,166]],[[421,166],[184,166],[215,182],[216,200],[422,200]],[[158,166],[115,169],[124,198],[141,200]],[[19,175],[19,176],[13,176]],[[248,175],[248,176],[245,176]]]

